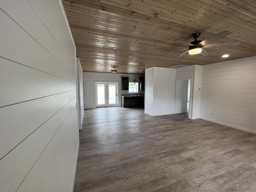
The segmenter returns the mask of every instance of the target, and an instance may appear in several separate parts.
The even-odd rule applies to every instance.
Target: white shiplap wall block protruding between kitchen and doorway
[[[145,113],[152,116],[174,114],[176,69],[153,67],[145,72]]]

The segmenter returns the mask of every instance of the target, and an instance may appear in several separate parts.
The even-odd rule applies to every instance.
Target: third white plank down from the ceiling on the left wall
[[[0,36],[1,57],[76,82],[70,70],[2,10],[0,17],[0,25],[4,28]]]

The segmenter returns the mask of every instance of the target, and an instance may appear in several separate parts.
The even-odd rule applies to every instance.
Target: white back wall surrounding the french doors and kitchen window
[[[121,77],[129,77],[129,82],[134,81],[134,74],[83,72],[84,108],[96,108],[95,82],[118,82],[118,106],[121,106],[121,94],[129,94],[128,90],[121,90]],[[137,82],[139,77],[144,75],[135,75]],[[144,90],[139,90],[138,94],[144,94]]]

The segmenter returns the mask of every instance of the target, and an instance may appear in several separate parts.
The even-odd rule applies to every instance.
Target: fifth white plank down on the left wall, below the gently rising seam
[[[0,108],[0,158],[75,97],[76,90]]]

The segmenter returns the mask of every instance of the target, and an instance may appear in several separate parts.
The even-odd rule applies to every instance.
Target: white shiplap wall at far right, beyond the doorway
[[[203,66],[200,118],[256,134],[256,57]]]

